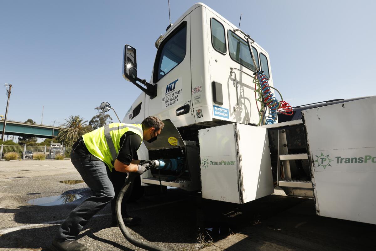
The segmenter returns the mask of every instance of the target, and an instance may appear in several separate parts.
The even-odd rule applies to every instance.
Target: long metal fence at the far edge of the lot
[[[0,159],[63,160],[70,158],[71,147],[62,146],[5,146],[0,147]],[[8,157],[7,157],[8,156]],[[10,157],[12,156],[12,157]]]

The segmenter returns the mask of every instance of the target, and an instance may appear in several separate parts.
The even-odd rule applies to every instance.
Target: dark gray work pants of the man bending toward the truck
[[[81,156],[71,152],[71,161],[92,195],[76,207],[60,226],[55,235],[58,241],[74,240],[89,219],[116,198],[126,177],[126,173],[116,172],[117,175],[114,175],[115,170],[111,173],[103,161],[93,160],[91,155]],[[111,180],[115,183],[112,184]],[[123,216],[126,214],[124,202],[121,210]]]

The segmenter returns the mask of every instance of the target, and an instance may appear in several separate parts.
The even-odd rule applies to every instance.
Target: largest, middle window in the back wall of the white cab
[[[229,52],[230,58],[241,65],[249,68],[252,71],[256,71],[253,65],[252,55],[248,49],[248,44],[246,41],[241,39],[231,30],[227,31],[227,37],[229,40]],[[257,50],[252,47],[253,54],[257,55]],[[256,64],[258,65],[258,57],[255,58]]]

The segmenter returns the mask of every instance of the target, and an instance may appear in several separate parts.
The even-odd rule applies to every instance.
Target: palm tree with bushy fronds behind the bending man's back
[[[91,131],[91,126],[86,124],[88,121],[83,120],[84,118],[73,115],[65,119],[66,122],[59,128],[58,139],[66,143],[74,143],[83,134]]]

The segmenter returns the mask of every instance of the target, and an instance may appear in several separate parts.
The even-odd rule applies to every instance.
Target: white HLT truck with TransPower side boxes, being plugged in
[[[250,36],[197,3],[155,45],[150,83],[137,76],[136,49],[124,47],[123,76],[143,92],[122,122],[164,120],[158,140],[142,144],[138,158],[174,166],[144,173],[142,186],[238,204],[279,186],[315,199],[318,215],[376,224],[376,97],[259,125],[270,109],[260,111],[253,76],[264,71],[271,94],[273,77],[268,53]]]

